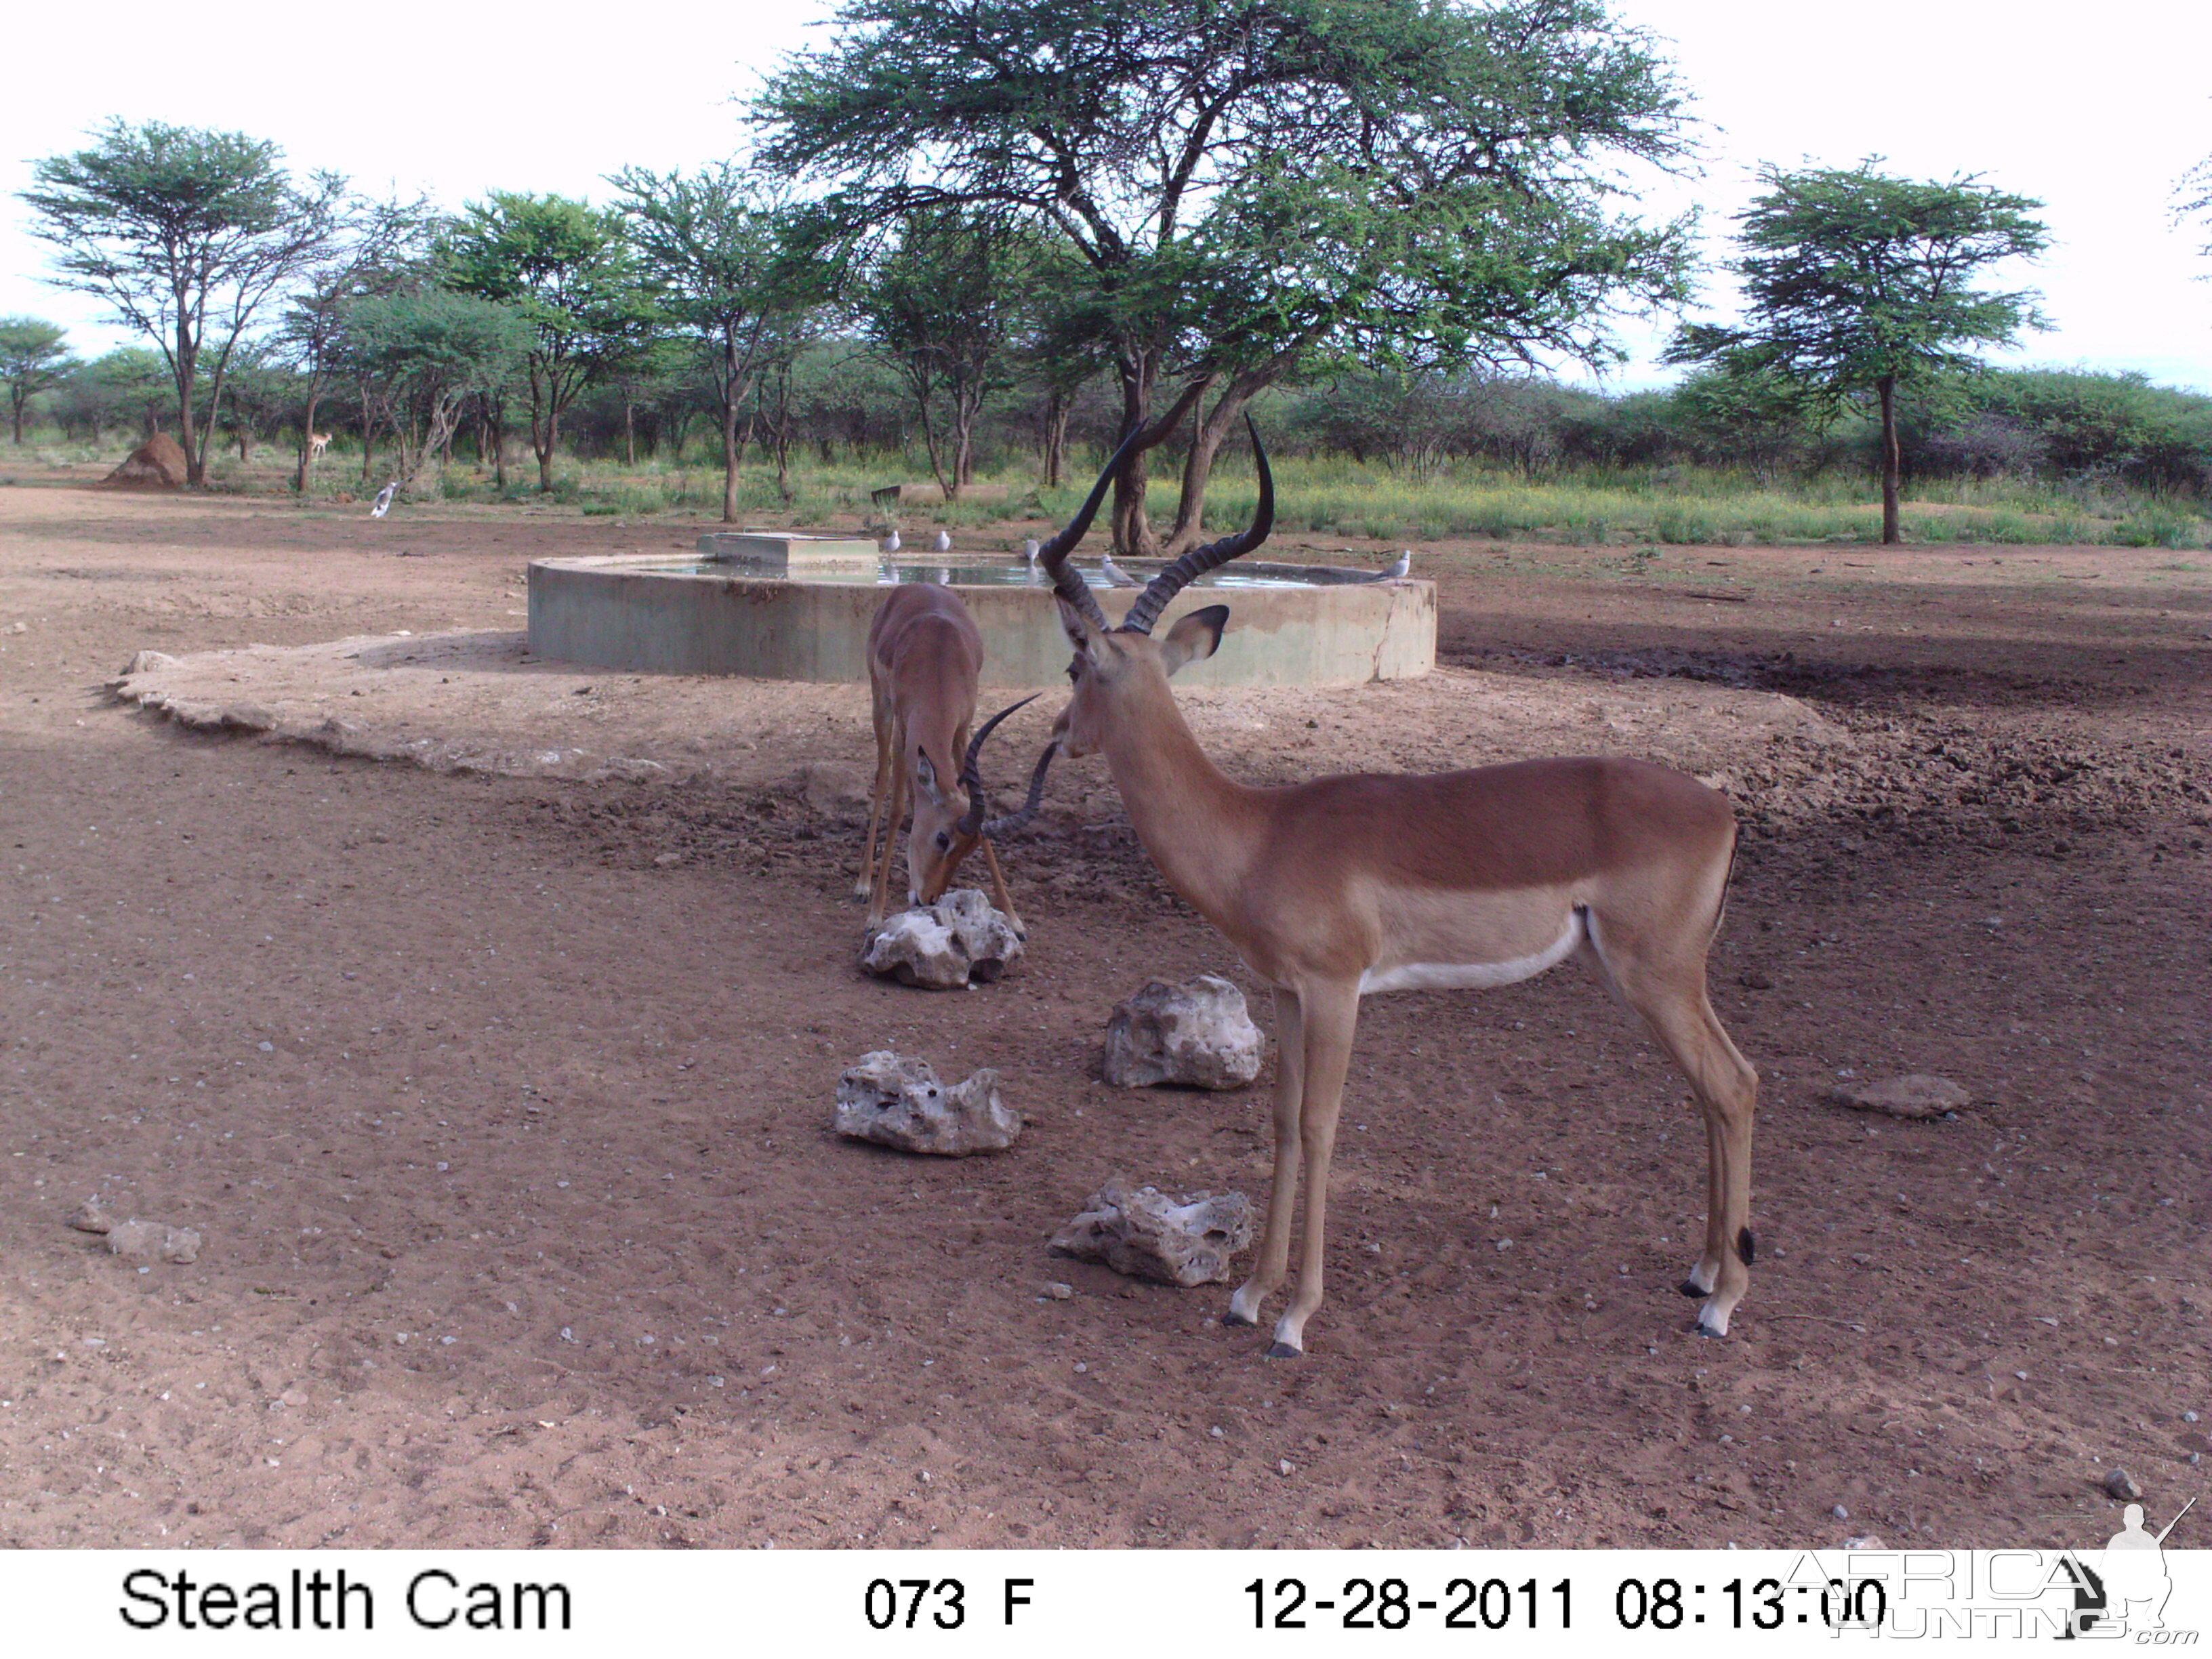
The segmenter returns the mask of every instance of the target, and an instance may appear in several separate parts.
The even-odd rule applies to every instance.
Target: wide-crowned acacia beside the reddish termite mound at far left
[[[330,243],[345,179],[316,173],[296,188],[283,150],[263,139],[122,119],[93,148],[51,155],[31,175],[31,234],[60,248],[60,274],[46,281],[106,301],[161,347],[186,482],[204,484],[201,358],[212,363],[212,418],[254,312]]]

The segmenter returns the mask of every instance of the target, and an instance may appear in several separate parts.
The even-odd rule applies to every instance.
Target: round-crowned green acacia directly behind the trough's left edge
[[[447,288],[513,305],[531,325],[531,449],[538,489],[551,491],[562,414],[653,321],[624,219],[571,197],[493,190],[447,230],[440,261]]]

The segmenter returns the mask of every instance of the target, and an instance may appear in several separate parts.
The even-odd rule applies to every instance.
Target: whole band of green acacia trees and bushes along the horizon
[[[265,139],[111,119],[20,201],[51,281],[153,354],[80,365],[0,319],[18,427],[27,405],[84,442],[164,422],[195,487],[288,440],[299,491],[354,465],[418,495],[504,493],[524,442],[540,493],[710,447],[726,520],[752,511],[748,458],[785,509],[805,473],[896,458],[967,511],[980,473],[1026,498],[1117,449],[1102,524],[1159,555],[1219,520],[1248,414],[1285,460],[1447,526],[1489,513],[1440,504],[1469,473],[1871,476],[1882,540],[1907,480],[2112,518],[2112,491],[2181,515],[2212,476],[2212,400],[1989,372],[2044,327],[2033,290],[1984,283],[2051,246],[2042,204],[1880,157],[1761,166],[1743,316],[1677,330],[1681,385],[1526,372],[1617,363],[1613,321],[1681,312],[1705,274],[1694,215],[1650,221],[1626,188],[1697,166],[1690,88],[1604,0],[847,0],[836,22],[745,102],[741,157],[608,173],[602,206],[374,201]],[[2177,190],[2212,212],[2197,173]],[[1584,507],[1564,515],[1610,522]]]

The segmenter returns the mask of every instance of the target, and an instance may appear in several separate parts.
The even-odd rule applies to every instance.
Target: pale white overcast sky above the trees
[[[2141,369],[2212,392],[2212,226],[2172,226],[2179,175],[2212,155],[2212,4],[2108,0],[2084,11],[1966,0],[1615,0],[1672,42],[1710,124],[1705,177],[1661,181],[1652,212],[1697,204],[1712,254],[1761,161],[1905,177],[1975,173],[2046,204],[2055,246],[1997,274],[2044,294],[2053,332],[2008,363]],[[0,314],[71,327],[80,352],[126,336],[91,301],[38,281],[46,246],[15,192],[38,157],[80,148],[106,117],[268,137],[299,170],[425,190],[458,208],[484,190],[606,197],[626,164],[690,168],[739,146],[730,102],[830,15],[814,0],[664,0],[588,22],[515,7],[385,4],[215,13],[108,0],[84,18],[44,7],[9,24],[0,97]],[[617,15],[635,18],[619,31]],[[230,20],[234,18],[234,20]],[[1708,288],[1710,314],[1732,310]],[[1668,323],[1624,332],[1650,367]]]

